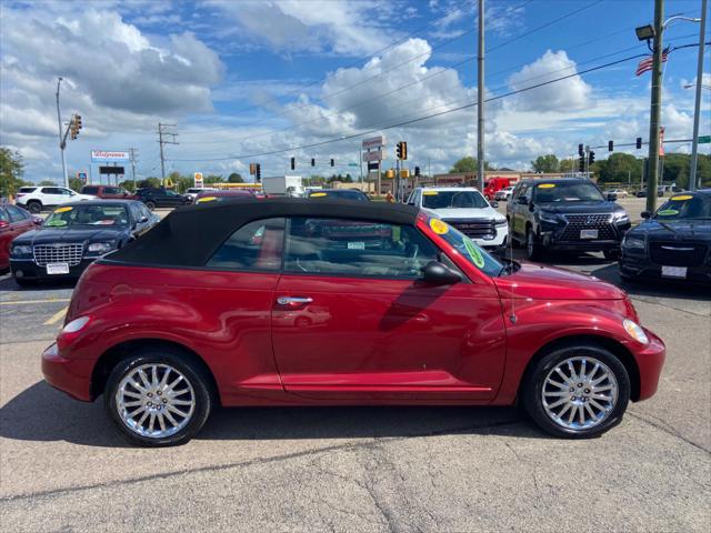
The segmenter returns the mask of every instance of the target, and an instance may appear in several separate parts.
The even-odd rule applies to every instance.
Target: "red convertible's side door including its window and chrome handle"
[[[504,362],[495,289],[424,284],[420,268],[435,260],[449,261],[412,227],[290,220],[272,310],[284,389],[344,402],[493,398]]]

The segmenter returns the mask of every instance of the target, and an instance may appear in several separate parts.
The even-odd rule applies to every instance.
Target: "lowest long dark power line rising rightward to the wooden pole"
[[[615,64],[620,64],[620,63],[623,63],[623,62],[627,62],[627,61],[631,61],[633,59],[644,58],[647,56],[648,56],[647,53],[641,53],[641,54],[638,53],[635,56],[630,56],[628,58],[619,59],[617,61],[611,61],[609,63],[600,64],[598,67],[592,67],[590,69],[581,70],[580,72],[575,72],[575,73],[572,73],[572,74],[568,74],[568,76],[563,76],[563,77],[560,77],[560,78],[555,78],[553,80],[543,81],[541,83],[537,83],[537,84],[533,84],[533,86],[530,86],[530,87],[525,87],[525,88],[522,88],[522,89],[509,91],[507,93],[499,94],[499,95],[495,95],[495,97],[490,97],[490,98],[485,99],[484,102],[493,102],[493,101],[497,101],[497,100],[501,100],[503,98],[512,97],[514,94],[520,94],[522,92],[527,92],[527,91],[530,91],[530,90],[533,90],[533,89],[538,89],[538,88],[541,88],[541,87],[550,86],[552,83],[557,83],[559,81],[568,80],[568,79],[574,78],[577,76],[587,74],[589,72],[594,72],[597,70],[607,69],[609,67],[613,67]],[[346,141],[346,140],[349,140],[349,139],[356,139],[356,138],[359,138],[359,137],[369,135],[369,134],[375,133],[378,131],[391,130],[393,128],[401,128],[403,125],[413,124],[413,123],[417,123],[417,122],[421,122],[423,120],[429,120],[429,119],[433,119],[433,118],[437,118],[437,117],[442,117],[444,114],[453,113],[453,112],[457,112],[457,111],[462,111],[464,109],[473,108],[475,105],[477,105],[477,102],[467,103],[464,105],[459,105],[457,108],[449,109],[449,110],[445,110],[445,111],[431,113],[431,114],[428,114],[428,115],[424,115],[424,117],[419,117],[419,118],[415,118],[415,119],[405,120],[405,121],[402,121],[402,122],[398,122],[398,123],[385,125],[385,127],[381,127],[381,128],[371,129],[371,130],[368,130],[368,131],[361,131],[359,133],[353,133],[353,134],[350,134],[350,135],[343,135],[343,137],[340,137],[338,139],[330,139],[330,140],[327,140],[327,141],[319,141],[319,142],[313,142],[313,143],[309,143],[309,144],[302,144],[302,145],[299,145],[299,147],[289,147],[289,148],[283,149],[283,150],[270,150],[270,151],[267,151],[267,152],[239,154],[239,155],[232,155],[232,157],[227,157],[227,158],[172,159],[171,161],[176,161],[176,162],[179,162],[179,161],[180,162],[228,161],[228,160],[233,160],[233,159],[249,159],[249,158],[257,158],[257,157],[262,157],[262,155],[271,155],[271,154],[274,154],[274,153],[286,153],[286,152],[290,152],[290,151],[294,151],[294,150],[304,150],[304,149],[308,149],[308,148],[323,147],[323,145],[327,145],[327,144],[332,144],[334,142],[341,142],[341,141]]]

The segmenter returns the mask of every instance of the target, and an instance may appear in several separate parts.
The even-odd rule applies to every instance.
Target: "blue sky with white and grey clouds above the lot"
[[[649,138],[650,73],[634,76],[641,58],[585,71],[648,53],[634,28],[652,21],[652,0],[485,3],[488,161],[525,170],[541,154],[570,158],[579,143]],[[665,3],[667,17],[700,16],[700,0]],[[70,175],[96,178],[91,150],[130,147],[139,179],[160,175],[159,122],[178,133],[166,173],[247,178],[259,162],[262,175],[358,175],[360,143],[377,134],[387,140],[384,167],[407,141],[407,165],[445,172],[477,153],[477,23],[474,0],[2,0],[0,144],[22,154],[26,179],[61,180],[61,76],[62,118],[83,122],[67,145]],[[695,81],[697,48],[673,49],[698,39],[693,22],[664,33],[665,139],[692,135],[694,90],[684,86]],[[705,86],[710,54],[707,47]],[[704,89],[700,134],[710,130]],[[598,160],[608,154],[597,150]]]

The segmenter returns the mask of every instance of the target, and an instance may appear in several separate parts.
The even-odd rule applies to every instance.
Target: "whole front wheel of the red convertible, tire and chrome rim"
[[[528,373],[522,391],[531,419],[547,433],[567,439],[604,433],[622,420],[629,400],[627,369],[595,345],[549,353]]]

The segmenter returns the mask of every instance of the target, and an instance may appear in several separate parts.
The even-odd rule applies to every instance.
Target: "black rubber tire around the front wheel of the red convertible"
[[[587,358],[607,365],[617,380],[618,398],[611,410],[597,425],[587,429],[569,429],[553,421],[543,405],[543,385],[551,371],[570,358]],[[589,369],[589,366],[588,366]],[[582,373],[582,372],[581,372]],[[547,433],[564,439],[591,439],[599,436],[622,421],[630,401],[630,376],[624,364],[610,351],[595,344],[565,346],[544,355],[527,372],[522,384],[521,400],[531,419]],[[562,381],[562,380],[561,380]],[[580,386],[580,385],[578,385]],[[575,389],[579,390],[579,389]],[[568,394],[568,392],[565,393]],[[563,416],[568,415],[565,413]],[[561,416],[561,418],[563,418]],[[574,421],[573,421],[574,422]]]

